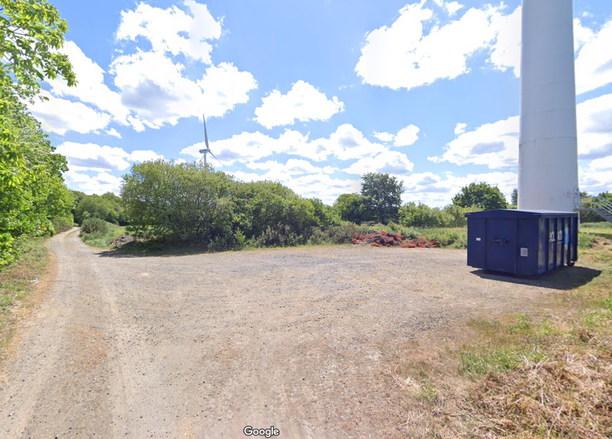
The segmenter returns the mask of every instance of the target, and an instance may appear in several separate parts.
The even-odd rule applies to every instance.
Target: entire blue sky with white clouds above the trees
[[[520,1],[52,0],[79,85],[31,111],[71,189],[212,152],[237,179],[331,204],[366,172],[444,206],[517,186]],[[580,188],[612,189],[612,2],[574,1]],[[209,157],[210,161],[211,157]]]

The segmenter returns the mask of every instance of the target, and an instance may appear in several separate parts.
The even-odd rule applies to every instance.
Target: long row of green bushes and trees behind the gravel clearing
[[[366,230],[362,226],[375,224],[390,230],[465,227],[465,212],[482,207],[460,203],[473,204],[471,196],[479,190],[487,192],[483,200],[492,203],[488,208],[507,206],[498,188],[483,185],[464,188],[443,209],[401,206],[401,182],[389,174],[368,173],[360,193],[340,195],[327,206],[278,182],[240,182],[209,165],[157,160],[132,166],[124,176],[121,198],[78,193],[75,217],[127,223],[130,234],[156,244],[182,242],[215,250],[348,242]]]

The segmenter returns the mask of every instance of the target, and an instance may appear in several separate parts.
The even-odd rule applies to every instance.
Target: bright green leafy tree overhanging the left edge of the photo
[[[58,53],[67,30],[46,0],[0,0],[0,265],[15,257],[15,239],[53,233],[53,216],[72,223],[65,159],[53,154],[22,103],[45,78],[75,85],[70,62]]]

